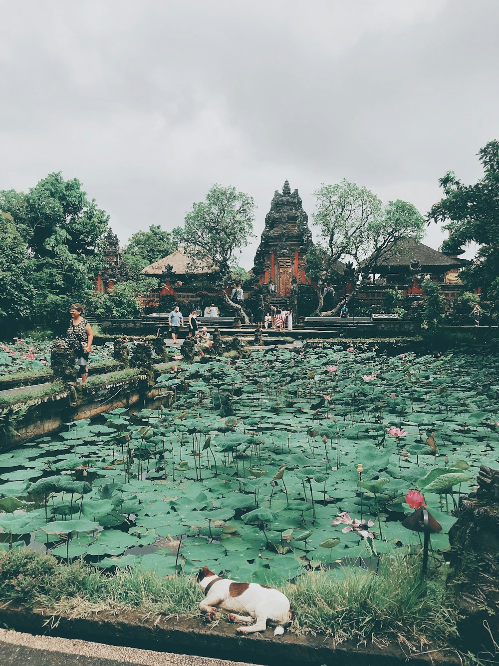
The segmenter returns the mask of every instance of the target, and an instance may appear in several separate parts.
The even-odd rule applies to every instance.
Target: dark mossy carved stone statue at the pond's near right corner
[[[491,634],[496,641],[499,637],[499,470],[482,465],[477,482],[476,492],[460,498],[459,517],[448,533],[449,582],[466,646],[494,652]]]

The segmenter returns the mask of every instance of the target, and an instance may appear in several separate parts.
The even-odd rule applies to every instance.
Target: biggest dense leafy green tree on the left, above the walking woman
[[[11,214],[27,245],[37,321],[67,320],[71,300],[92,288],[108,215],[88,200],[77,178],[64,180],[61,172],[27,194],[1,191],[0,210]]]

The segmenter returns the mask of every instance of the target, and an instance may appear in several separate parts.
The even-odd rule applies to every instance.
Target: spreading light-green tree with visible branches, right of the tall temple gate
[[[337,262],[351,262],[343,277],[354,286],[373,272],[378,260],[393,242],[422,237],[424,218],[413,204],[398,199],[383,209],[381,199],[365,187],[345,180],[335,185],[323,184],[314,192],[317,208],[313,216],[319,227],[323,246],[315,246],[313,266],[321,280],[338,282]],[[320,310],[322,306],[319,301]],[[321,313],[323,316],[331,312]]]

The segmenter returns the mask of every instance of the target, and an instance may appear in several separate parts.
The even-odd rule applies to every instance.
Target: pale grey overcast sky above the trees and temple
[[[499,137],[497,0],[0,0],[0,189],[77,177],[122,243],[214,182],[425,214]],[[438,247],[432,225],[426,240]],[[255,240],[242,264],[251,268]]]

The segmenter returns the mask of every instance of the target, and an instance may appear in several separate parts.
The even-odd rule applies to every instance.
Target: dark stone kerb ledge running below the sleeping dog
[[[234,661],[251,661],[265,666],[461,666],[458,653],[426,650],[409,655],[398,645],[379,648],[341,643],[321,636],[297,636],[285,633],[273,637],[265,633],[242,637],[236,627],[222,622],[205,625],[200,619],[167,619],[156,616],[144,619],[134,613],[108,615],[96,613],[92,618],[53,617],[50,611],[30,611],[6,605],[0,608],[0,625],[35,634],[91,640],[107,645],[124,645],[177,654],[198,655]]]

